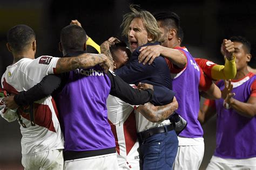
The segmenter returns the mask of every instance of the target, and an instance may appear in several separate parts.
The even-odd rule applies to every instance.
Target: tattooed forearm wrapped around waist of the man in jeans
[[[173,98],[172,103],[161,105],[161,106],[154,106],[151,103],[146,103],[144,105],[140,105],[137,108],[137,111],[140,112],[146,119],[150,122],[161,122],[167,119],[172,115],[172,113],[178,109],[178,102],[176,97]]]

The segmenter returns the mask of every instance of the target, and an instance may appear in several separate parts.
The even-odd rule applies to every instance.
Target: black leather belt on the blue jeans
[[[139,132],[138,133],[138,137],[140,139],[146,139],[151,137],[154,134],[158,134],[158,133],[164,133],[164,132],[168,132],[174,130],[174,126],[173,124],[167,125],[167,126],[161,126],[159,128],[153,128],[153,129],[149,129],[143,132]]]

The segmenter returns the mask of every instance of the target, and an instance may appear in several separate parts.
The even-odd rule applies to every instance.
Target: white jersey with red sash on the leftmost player
[[[53,73],[58,58],[52,59],[50,56],[41,56],[36,60],[24,58],[8,66],[2,76],[3,88],[14,94],[30,89],[45,75]],[[22,154],[36,154],[64,147],[58,112],[51,96],[20,107],[17,119],[21,125]]]

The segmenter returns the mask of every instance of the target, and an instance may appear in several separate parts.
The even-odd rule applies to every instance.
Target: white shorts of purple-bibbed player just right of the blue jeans
[[[204,139],[203,138],[188,138],[189,140],[194,140],[189,143],[191,145],[180,145],[179,138],[179,147],[176,155],[176,159],[173,164],[173,169],[175,170],[196,170],[199,169],[201,162],[204,157]],[[183,138],[182,140],[186,140]],[[186,142],[181,141],[181,144]]]

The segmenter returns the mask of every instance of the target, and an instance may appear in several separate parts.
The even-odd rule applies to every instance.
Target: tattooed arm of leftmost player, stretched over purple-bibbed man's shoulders
[[[104,65],[105,72],[110,67],[109,59],[104,54],[84,53],[75,57],[60,58],[56,65],[56,74],[69,72],[77,68],[90,68],[96,65]]]

